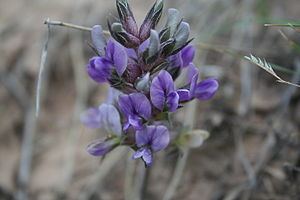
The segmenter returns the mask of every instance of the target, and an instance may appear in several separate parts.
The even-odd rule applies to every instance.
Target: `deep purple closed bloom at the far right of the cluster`
[[[214,96],[219,87],[216,79],[206,79],[197,84],[193,96],[200,100],[208,100]]]

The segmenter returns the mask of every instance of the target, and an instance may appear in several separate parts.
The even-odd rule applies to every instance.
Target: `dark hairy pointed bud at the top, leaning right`
[[[158,0],[155,2],[155,4],[152,6],[148,14],[146,15],[146,18],[141,25],[140,32],[139,32],[139,38],[142,41],[145,41],[150,36],[150,30],[155,29],[155,26],[157,25],[161,14],[163,10],[163,0]]]

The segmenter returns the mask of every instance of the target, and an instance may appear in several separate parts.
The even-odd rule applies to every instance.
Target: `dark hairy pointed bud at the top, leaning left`
[[[124,29],[138,37],[138,26],[136,24],[136,21],[134,19],[134,16],[132,14],[132,11],[130,9],[130,6],[128,4],[127,0],[116,0],[116,5],[117,5],[117,9],[118,9],[118,13],[119,13],[119,17],[121,20],[121,23],[124,27]]]

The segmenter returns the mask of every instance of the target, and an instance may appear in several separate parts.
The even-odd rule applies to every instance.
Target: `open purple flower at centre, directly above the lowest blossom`
[[[119,107],[126,117],[124,130],[129,126],[141,129],[143,121],[151,117],[151,104],[148,98],[142,93],[132,93],[119,96]]]

